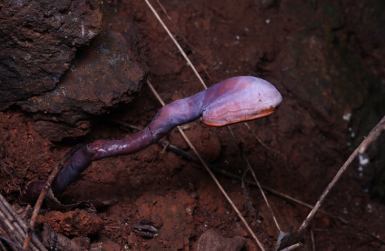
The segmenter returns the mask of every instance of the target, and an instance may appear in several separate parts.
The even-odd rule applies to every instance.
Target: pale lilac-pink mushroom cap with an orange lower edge
[[[269,82],[254,76],[238,76],[207,90],[210,100],[203,110],[203,123],[222,127],[263,118],[277,111],[282,96]]]

